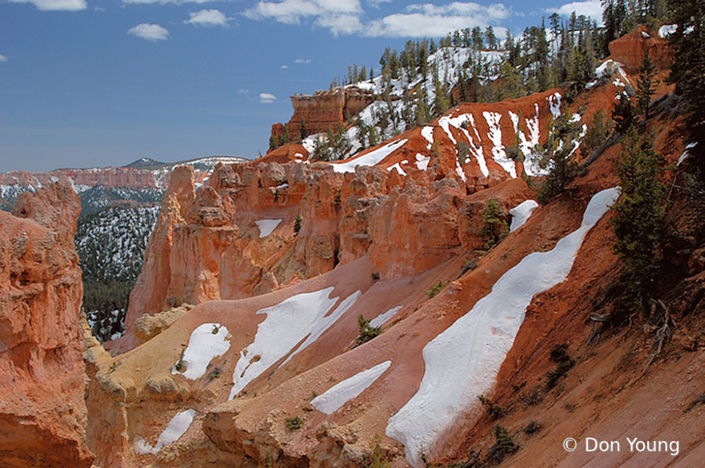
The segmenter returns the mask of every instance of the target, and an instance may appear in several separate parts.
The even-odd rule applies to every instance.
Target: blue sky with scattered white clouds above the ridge
[[[599,1],[0,0],[0,172],[255,158],[288,96],[386,46],[572,10]]]

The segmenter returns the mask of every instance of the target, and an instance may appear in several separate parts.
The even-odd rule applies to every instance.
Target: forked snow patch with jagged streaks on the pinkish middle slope
[[[329,297],[333,289],[331,286],[321,291],[297,294],[257,311],[257,315],[265,314],[266,319],[257,326],[255,340],[240,351],[240,359],[233,371],[234,386],[230,400],[278,360],[295,350],[291,358],[316,341],[362,295],[360,291],[350,294],[326,317],[338,302],[337,297]],[[296,348],[301,341],[304,343]]]

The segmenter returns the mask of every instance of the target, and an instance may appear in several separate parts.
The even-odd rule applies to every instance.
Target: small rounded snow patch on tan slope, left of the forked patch
[[[200,379],[206,373],[209,362],[225,354],[228,349],[228,329],[219,323],[204,323],[192,331],[188,339],[188,347],[183,352],[185,372],[178,372],[174,365],[171,374],[181,374],[190,380]]]

